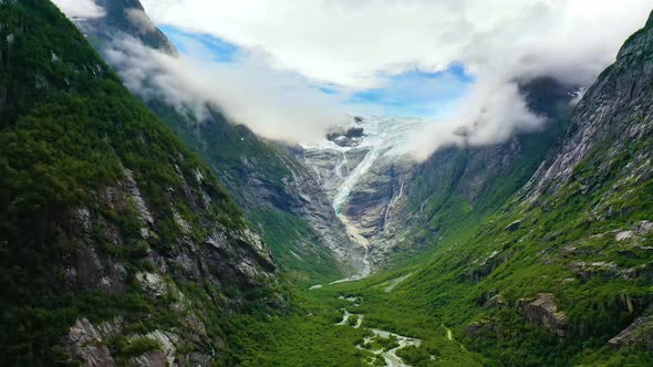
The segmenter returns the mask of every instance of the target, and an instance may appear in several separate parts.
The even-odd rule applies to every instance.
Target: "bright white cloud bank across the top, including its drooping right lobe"
[[[650,0],[144,0],[159,23],[263,50],[268,65],[350,90],[387,75],[437,72],[462,63],[476,85],[414,146],[491,144],[539,128],[517,82],[548,75],[588,85],[625,38],[642,27]]]

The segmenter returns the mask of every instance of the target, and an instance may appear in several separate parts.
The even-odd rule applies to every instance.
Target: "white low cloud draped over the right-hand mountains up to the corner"
[[[476,34],[458,56],[476,83],[443,120],[414,136],[416,157],[425,159],[442,146],[497,144],[543,128],[546,118],[529,111],[518,85],[550,76],[568,86],[590,86],[628,35],[644,24],[649,8],[640,1],[542,1]]]

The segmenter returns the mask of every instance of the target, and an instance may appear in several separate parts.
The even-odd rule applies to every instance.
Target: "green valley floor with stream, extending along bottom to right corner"
[[[459,301],[426,295],[428,262],[320,287],[294,290],[284,314],[238,319],[235,364],[241,366],[643,366],[642,350],[558,338],[505,311],[504,335],[471,338],[478,317],[464,287]],[[419,284],[419,286],[415,286]],[[417,291],[416,291],[417,290]],[[508,326],[507,326],[508,325]],[[245,356],[245,357],[240,357]],[[628,363],[630,361],[630,364]]]

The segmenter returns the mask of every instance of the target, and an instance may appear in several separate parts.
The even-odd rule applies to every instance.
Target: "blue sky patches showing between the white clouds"
[[[160,30],[170,39],[182,54],[190,54],[194,45],[200,45],[204,57],[225,64],[240,62],[238,54],[243,50],[210,34],[193,33],[172,25]],[[300,75],[294,75],[300,76]],[[300,76],[302,77],[302,76]],[[401,74],[379,74],[384,81],[381,87],[363,91],[348,91],[339,86],[317,81],[308,81],[321,93],[342,94],[345,105],[352,113],[361,107],[379,111],[387,116],[415,116],[438,118],[446,115],[455,101],[460,98],[474,78],[465,73],[463,65],[454,64],[444,72],[431,73],[410,70]]]

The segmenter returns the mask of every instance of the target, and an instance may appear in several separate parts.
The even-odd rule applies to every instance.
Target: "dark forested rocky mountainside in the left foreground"
[[[52,3],[0,24],[0,364],[226,363],[284,306],[253,227]]]

